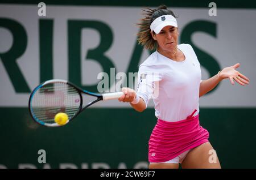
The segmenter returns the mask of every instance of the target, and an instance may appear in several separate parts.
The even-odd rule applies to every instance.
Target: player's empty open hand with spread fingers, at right
[[[230,67],[225,67],[219,74],[220,78],[229,78],[232,85],[234,85],[234,80],[238,84],[241,84],[243,86],[245,86],[245,84],[249,84],[250,79],[247,78],[245,75],[241,74],[239,71],[237,71],[236,68],[238,67],[240,67],[240,63],[237,63],[236,65]]]

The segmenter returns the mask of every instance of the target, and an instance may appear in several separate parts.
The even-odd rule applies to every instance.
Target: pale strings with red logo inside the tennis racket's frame
[[[31,112],[42,122],[55,123],[57,113],[66,113],[71,119],[80,108],[80,93],[66,83],[46,84],[32,98]]]

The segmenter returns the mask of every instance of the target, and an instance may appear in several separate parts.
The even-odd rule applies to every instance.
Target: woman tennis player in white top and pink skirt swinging
[[[221,168],[209,133],[199,123],[199,97],[229,78],[234,85],[249,84],[236,70],[225,67],[212,78],[201,80],[200,63],[189,44],[177,44],[176,16],[166,6],[146,8],[138,24],[138,42],[156,50],[139,66],[137,93],[123,88],[118,100],[130,102],[138,112],[153,98],[158,118],[148,142],[149,168]],[[214,157],[215,155],[215,157]],[[215,159],[215,160],[214,160]]]

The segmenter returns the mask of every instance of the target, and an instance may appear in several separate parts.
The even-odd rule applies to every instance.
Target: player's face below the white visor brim
[[[177,28],[171,25],[164,27],[159,34],[151,32],[154,40],[158,41],[158,49],[173,52],[177,46],[177,37],[179,35]]]

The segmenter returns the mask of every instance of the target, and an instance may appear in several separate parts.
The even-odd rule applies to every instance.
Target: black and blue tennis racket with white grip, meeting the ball
[[[28,108],[35,122],[43,126],[57,127],[61,126],[55,122],[57,113],[67,114],[68,123],[94,103],[117,99],[122,95],[123,92],[93,93],[80,89],[67,80],[52,79],[38,85],[31,92]],[[93,100],[87,103],[91,98]]]

